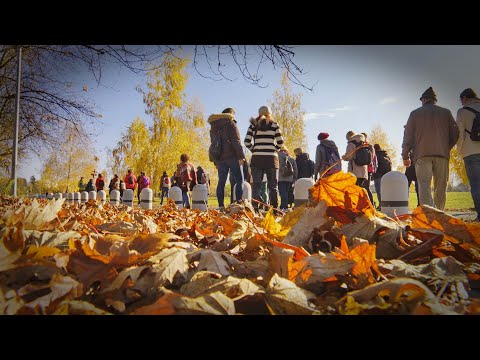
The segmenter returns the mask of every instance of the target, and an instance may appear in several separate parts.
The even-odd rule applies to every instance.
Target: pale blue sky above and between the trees
[[[347,131],[368,133],[378,124],[387,131],[400,155],[403,125],[410,112],[421,105],[419,97],[425,89],[432,86],[437,104],[450,109],[454,116],[461,106],[458,96],[463,89],[471,87],[480,92],[480,46],[476,45],[304,45],[296,48],[295,62],[307,72],[302,81],[307,85],[316,83],[313,92],[293,84],[293,90],[303,94],[306,150],[312,158],[319,132],[328,132],[342,154]],[[230,67],[232,64],[227,65],[227,74],[236,79],[233,82],[202,78],[190,66],[186,94],[189,100],[196,98],[203,104],[205,118],[226,107],[235,108],[243,141],[250,117],[256,116],[258,108],[280,87],[282,71],[264,64],[262,74],[268,86],[259,88],[248,84]],[[142,96],[135,90],[145,83],[145,77],[111,67],[103,74],[104,86],[97,86],[88,73],[84,75],[77,74],[76,81],[88,85],[84,95],[95,101],[103,116],[95,130],[99,136],[94,140],[100,169],[104,169],[105,147],[113,147],[136,116],[150,121]],[[39,178],[40,171],[38,159],[32,157],[21,164],[19,176]]]

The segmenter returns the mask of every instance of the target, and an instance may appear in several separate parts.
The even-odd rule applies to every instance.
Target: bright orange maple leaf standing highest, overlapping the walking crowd
[[[308,191],[315,201],[324,200],[327,206],[339,206],[345,209],[363,212],[367,216],[375,215],[368,194],[355,185],[357,178],[352,173],[342,171],[320,178]]]

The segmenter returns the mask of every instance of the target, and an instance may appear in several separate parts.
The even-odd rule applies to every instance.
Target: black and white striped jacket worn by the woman
[[[275,121],[259,126],[257,119],[250,119],[245,136],[245,146],[252,152],[251,167],[278,169],[278,150],[282,148],[283,137]]]

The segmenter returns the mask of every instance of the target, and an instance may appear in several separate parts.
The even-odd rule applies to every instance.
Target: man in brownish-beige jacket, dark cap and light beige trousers
[[[437,95],[429,87],[420,97],[422,106],[410,113],[403,134],[405,166],[415,164],[420,205],[445,209],[450,150],[458,140],[458,127],[450,110],[435,105]],[[410,151],[413,150],[413,159]],[[434,198],[430,184],[434,186]]]

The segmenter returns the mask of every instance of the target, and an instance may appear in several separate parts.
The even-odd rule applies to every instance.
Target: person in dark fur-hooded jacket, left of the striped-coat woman
[[[224,209],[225,183],[228,173],[230,172],[230,176],[234,177],[235,183],[243,183],[240,166],[243,166],[245,162],[245,155],[233,108],[226,108],[221,114],[210,115],[208,123],[211,125],[209,157],[218,170],[217,201],[219,208]],[[218,149],[221,149],[221,151],[218,151]],[[240,201],[242,196],[242,186],[237,186],[235,197]]]

